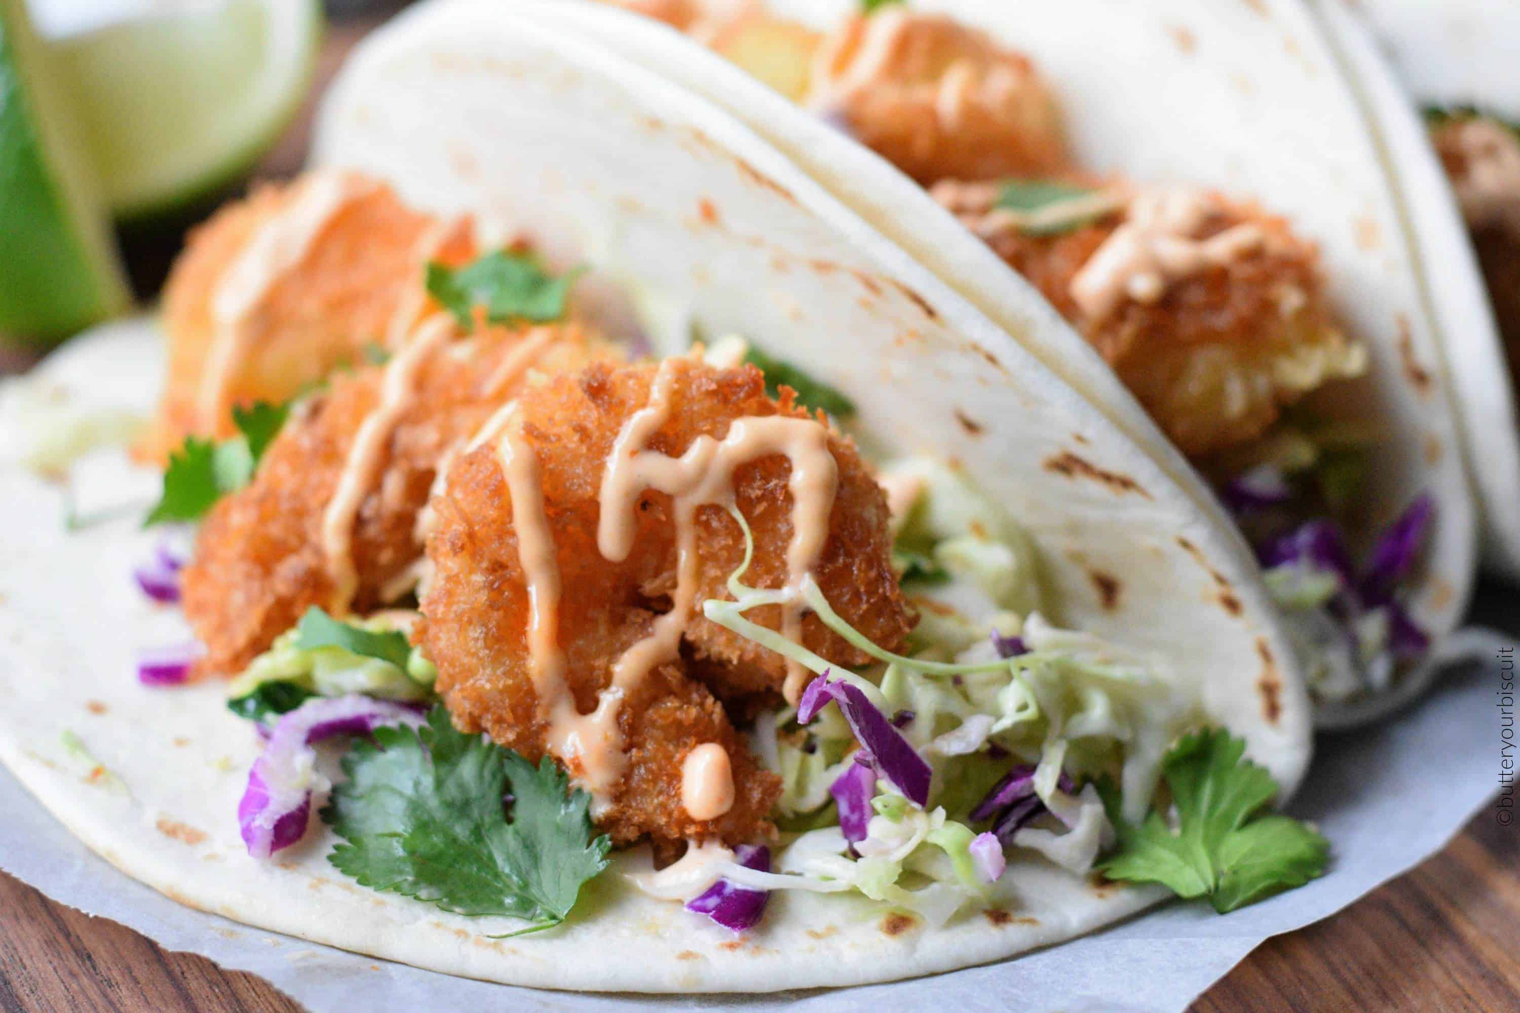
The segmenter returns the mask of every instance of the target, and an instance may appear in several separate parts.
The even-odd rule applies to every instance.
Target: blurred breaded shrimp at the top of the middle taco
[[[807,103],[924,185],[1043,176],[1069,159],[1055,100],[1026,56],[906,6],[834,29]]]

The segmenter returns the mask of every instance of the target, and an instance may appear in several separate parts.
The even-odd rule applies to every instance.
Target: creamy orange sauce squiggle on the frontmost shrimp
[[[632,551],[634,515],[646,489],[673,500],[676,525],[676,588],[672,607],[655,620],[651,632],[629,647],[613,667],[613,680],[602,690],[597,706],[581,714],[565,682],[564,653],[558,642],[559,568],[553,536],[544,512],[538,457],[521,436],[521,416],[514,413],[505,425],[497,454],[512,498],[512,522],[518,553],[527,579],[530,603],[527,647],[540,718],[547,724],[547,749],[593,796],[593,814],[605,813],[611,791],[628,767],[617,711],[628,693],[655,667],[678,656],[681,635],[692,620],[698,592],[696,510],[701,506],[733,506],[734,469],[762,457],[786,456],[792,465],[792,539],[787,545],[789,588],[798,588],[818,562],[828,538],[838,465],[828,451],[828,430],[813,419],[786,416],[746,416],[736,419],[719,440],[701,436],[681,457],[648,450],[649,439],[670,416],[670,396],[676,380],[676,360],[666,360],[651,389],[649,404],[623,424],[602,472],[597,548],[620,562]],[[801,635],[801,606],[787,604],[783,632]],[[801,668],[801,667],[798,667]],[[787,697],[796,699],[806,680],[787,676]],[[720,747],[719,747],[720,749]],[[690,762],[690,761],[689,761]],[[728,802],[722,809],[727,753],[719,761],[704,752],[682,770],[682,802],[698,811],[693,819],[713,819],[698,813],[722,814],[733,805],[731,768]],[[690,796],[687,794],[690,785]],[[690,808],[689,808],[690,811]]]

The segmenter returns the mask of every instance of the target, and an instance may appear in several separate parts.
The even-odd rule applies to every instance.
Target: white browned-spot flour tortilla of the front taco
[[[1152,652],[1284,791],[1298,784],[1307,697],[1233,536],[1021,345],[727,115],[509,5],[429,5],[357,50],[322,111],[318,152],[418,205],[492,217],[556,263],[637,282],[646,299],[689,307],[705,333],[743,331],[850,395],[877,453],[958,460],[1043,548],[1058,621]],[[44,371],[76,398],[146,412],[154,384],[103,378],[157,354],[152,325],[123,325]],[[628,887],[619,873],[648,863],[632,852],[588,884],[564,926],[492,940],[518,923],[347,881],[325,860],[322,826],[255,861],[236,823],[252,727],[226,712],[219,685],[132,679],[135,647],[187,633],[131,586],[154,536],[132,521],[65,533],[55,486],[14,465],[0,481],[14,491],[0,503],[12,574],[0,758],[85,843],[184,904],[514,984],[763,992],[1000,960],[1161,898],[1015,854],[986,908],[941,929],[856,896],[787,892],[736,940]],[[109,776],[68,755],[64,729]]]

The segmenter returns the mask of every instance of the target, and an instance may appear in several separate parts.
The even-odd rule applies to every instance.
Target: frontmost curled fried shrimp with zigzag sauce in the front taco
[[[754,539],[746,585],[786,586],[806,556],[865,636],[891,649],[910,627],[882,489],[848,439],[790,392],[768,398],[752,366],[682,357],[556,377],[518,398],[496,447],[458,460],[432,506],[421,642],[454,723],[553,753],[617,841],[769,829],[780,784],[719,700],[774,697],[787,667],[701,615],[745,557],[730,507]],[[784,629],[780,606],[749,617]],[[816,615],[795,632],[836,664],[868,661]],[[724,747],[734,787],[713,819],[681,803],[682,762],[704,743]]]

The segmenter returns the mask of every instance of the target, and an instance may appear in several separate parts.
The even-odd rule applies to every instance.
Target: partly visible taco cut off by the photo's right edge
[[[1484,563],[1517,579],[1520,85],[1508,71],[1508,53],[1520,46],[1520,11],[1502,3],[1383,2],[1368,3],[1360,17],[1324,5],[1321,17],[1359,82],[1426,251],[1426,284],[1484,512]]]

